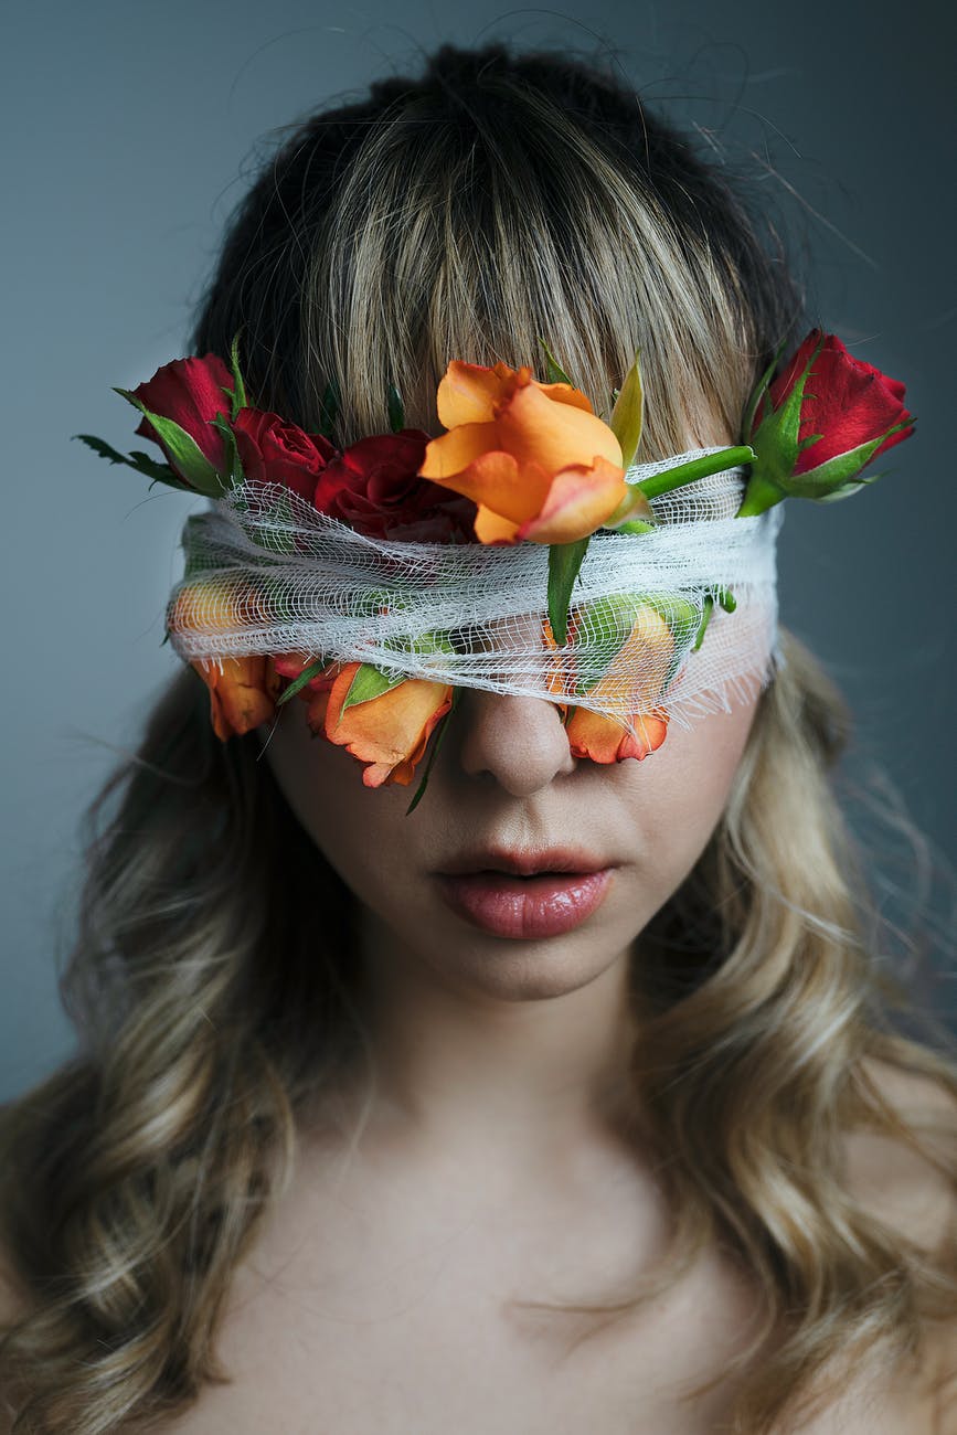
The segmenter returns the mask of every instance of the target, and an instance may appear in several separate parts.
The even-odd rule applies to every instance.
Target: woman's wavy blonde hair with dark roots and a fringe
[[[291,136],[234,221],[195,349],[224,353],[241,329],[255,402],[307,426],[334,385],[346,443],[387,426],[389,383],[430,426],[449,357],[534,363],[545,337],[601,400],[641,346],[653,456],[716,423],[735,438],[798,311],[742,202],[633,95],[554,56],[446,49],[422,80]],[[826,775],[845,715],[793,640],[786,659],[722,822],[643,933],[623,1114],[667,1154],[661,1279],[719,1237],[763,1294],[742,1432],[769,1432],[835,1353],[904,1358],[957,1313],[954,1251],[908,1243],[845,1180],[844,1138],[867,1126],[957,1184],[872,1071],[956,1101],[957,1076],[888,1025]],[[37,1435],[145,1428],[227,1373],[217,1323],[293,1168],[297,1115],[366,1040],[353,898],[255,738],[211,735],[194,674],[92,819],[66,986],[80,1055],[0,1122],[0,1234],[24,1303],[0,1373],[14,1431]]]

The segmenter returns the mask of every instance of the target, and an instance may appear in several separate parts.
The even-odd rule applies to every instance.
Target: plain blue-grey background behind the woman
[[[129,445],[132,410],[110,385],[185,352],[257,138],[442,39],[613,49],[649,100],[697,125],[719,158],[749,162],[808,251],[812,311],[908,383],[920,430],[894,451],[892,472],[848,504],[789,505],[783,616],[852,700],[864,805],[890,784],[933,851],[953,852],[948,11],[888,0],[7,9],[0,1096],[69,1050],[56,963],[79,815],[175,663],[159,647],[162,610],[191,501],[146,495],[69,438]],[[913,887],[905,844],[887,827],[867,837],[881,845],[877,881],[895,916]],[[948,900],[946,887],[931,897],[938,924]]]

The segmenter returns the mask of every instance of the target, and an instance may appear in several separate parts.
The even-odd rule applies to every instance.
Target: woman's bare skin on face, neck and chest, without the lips
[[[631,1045],[627,963],[719,821],[752,720],[739,705],[673,726],[641,762],[595,766],[571,758],[550,703],[468,692],[412,817],[410,789],[364,788],[298,703],[261,730],[300,822],[363,905],[376,1081],[346,1125],[304,1126],[291,1184],[230,1293],[218,1350],[232,1380],[164,1429],[723,1428],[758,1303],[720,1250],[607,1329],[518,1302],[626,1294],[666,1250],[654,1170],[610,1119]],[[435,887],[466,839],[574,839],[616,865],[611,890],[577,931],[491,937]],[[885,1182],[887,1152],[857,1159],[867,1188]],[[900,1152],[892,1167],[913,1211],[927,1172],[905,1172]],[[802,1429],[947,1426],[872,1368]]]

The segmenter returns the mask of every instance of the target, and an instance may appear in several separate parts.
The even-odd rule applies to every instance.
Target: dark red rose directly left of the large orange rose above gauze
[[[473,538],[475,504],[418,476],[428,442],[420,429],[359,439],[324,469],[316,485],[316,508],[370,538]]]

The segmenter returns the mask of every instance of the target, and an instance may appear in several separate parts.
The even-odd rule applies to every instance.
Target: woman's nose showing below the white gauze
[[[561,712],[544,697],[463,689],[453,725],[462,771],[512,796],[531,796],[575,771]]]

